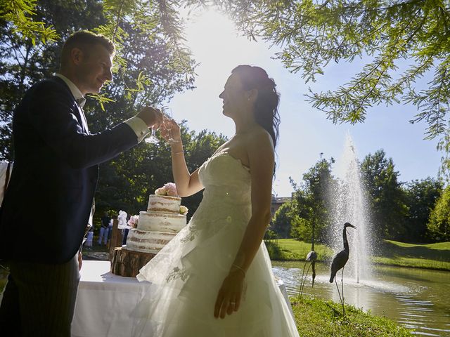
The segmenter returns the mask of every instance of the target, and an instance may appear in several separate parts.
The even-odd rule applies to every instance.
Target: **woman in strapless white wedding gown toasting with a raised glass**
[[[137,276],[150,285],[132,314],[134,336],[299,336],[262,242],[278,138],[275,86],[259,67],[231,72],[219,97],[236,134],[193,173],[179,126],[162,131],[172,138],[180,196],[205,190],[188,225]]]

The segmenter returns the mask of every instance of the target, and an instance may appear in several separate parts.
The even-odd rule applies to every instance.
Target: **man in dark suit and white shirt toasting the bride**
[[[14,112],[14,170],[0,211],[0,260],[10,267],[2,336],[70,337],[98,164],[134,147],[162,122],[159,110],[146,107],[89,133],[84,95],[112,79],[114,53],[101,35],[72,34],[59,74],[32,86]]]

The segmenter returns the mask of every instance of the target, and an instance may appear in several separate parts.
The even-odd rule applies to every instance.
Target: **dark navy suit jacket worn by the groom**
[[[14,169],[0,214],[0,259],[64,263],[82,244],[98,164],[137,144],[119,124],[90,135],[58,77],[35,84],[13,115]]]

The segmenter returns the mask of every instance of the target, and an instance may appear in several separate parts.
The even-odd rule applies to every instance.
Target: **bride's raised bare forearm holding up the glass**
[[[189,173],[186,159],[184,159],[183,143],[181,143],[180,128],[174,121],[172,122],[172,138],[175,140],[170,145],[172,152],[172,173],[174,175],[176,191],[180,197],[189,197],[192,194],[203,190],[203,185],[198,179],[198,169],[192,174]],[[165,137],[164,132],[162,136]]]

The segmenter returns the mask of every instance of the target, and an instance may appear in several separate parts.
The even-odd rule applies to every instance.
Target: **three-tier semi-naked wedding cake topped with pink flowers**
[[[167,183],[148,197],[147,211],[129,220],[132,228],[124,249],[156,254],[186,225],[188,209],[181,206],[174,183]]]

